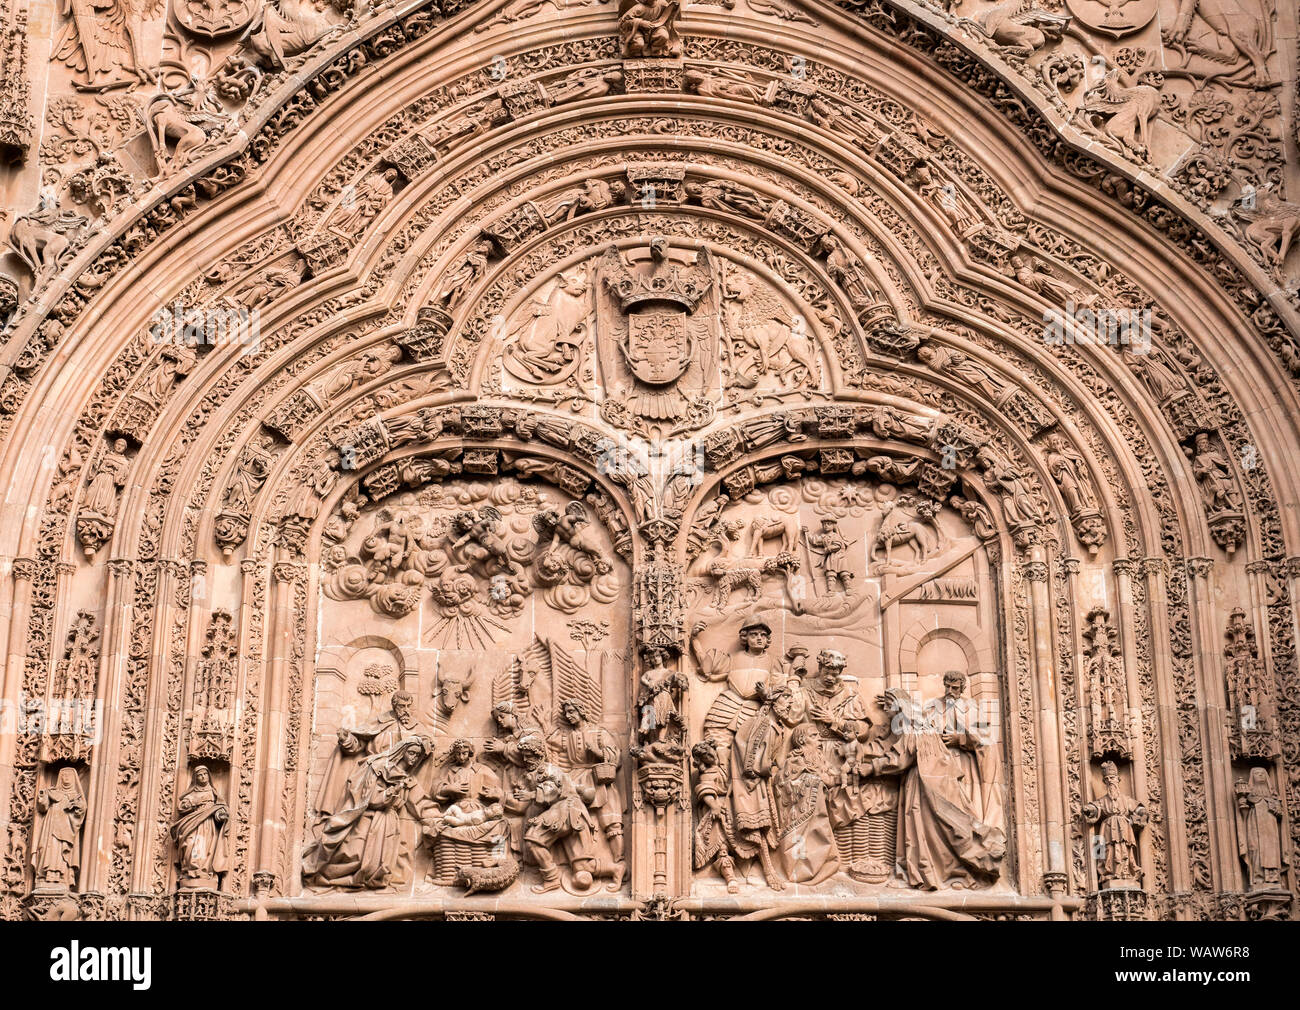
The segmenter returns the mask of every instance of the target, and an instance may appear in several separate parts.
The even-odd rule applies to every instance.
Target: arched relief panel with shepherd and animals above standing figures
[[[957,504],[803,477],[702,510],[685,585],[697,893],[998,881],[1002,686],[980,662],[997,603]]]

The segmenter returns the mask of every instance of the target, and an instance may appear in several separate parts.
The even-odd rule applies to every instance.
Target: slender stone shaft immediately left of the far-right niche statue
[[[1201,734],[1205,738],[1205,818],[1214,842],[1216,890],[1240,889],[1236,858],[1236,811],[1232,803],[1232,754],[1228,749],[1227,699],[1222,675],[1222,629],[1214,619],[1209,558],[1187,559],[1187,588],[1192,615],[1193,655],[1200,681]]]

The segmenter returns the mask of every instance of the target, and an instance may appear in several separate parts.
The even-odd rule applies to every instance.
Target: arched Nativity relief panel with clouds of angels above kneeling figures
[[[325,565],[304,884],[619,889],[630,580],[592,507],[448,476]]]

